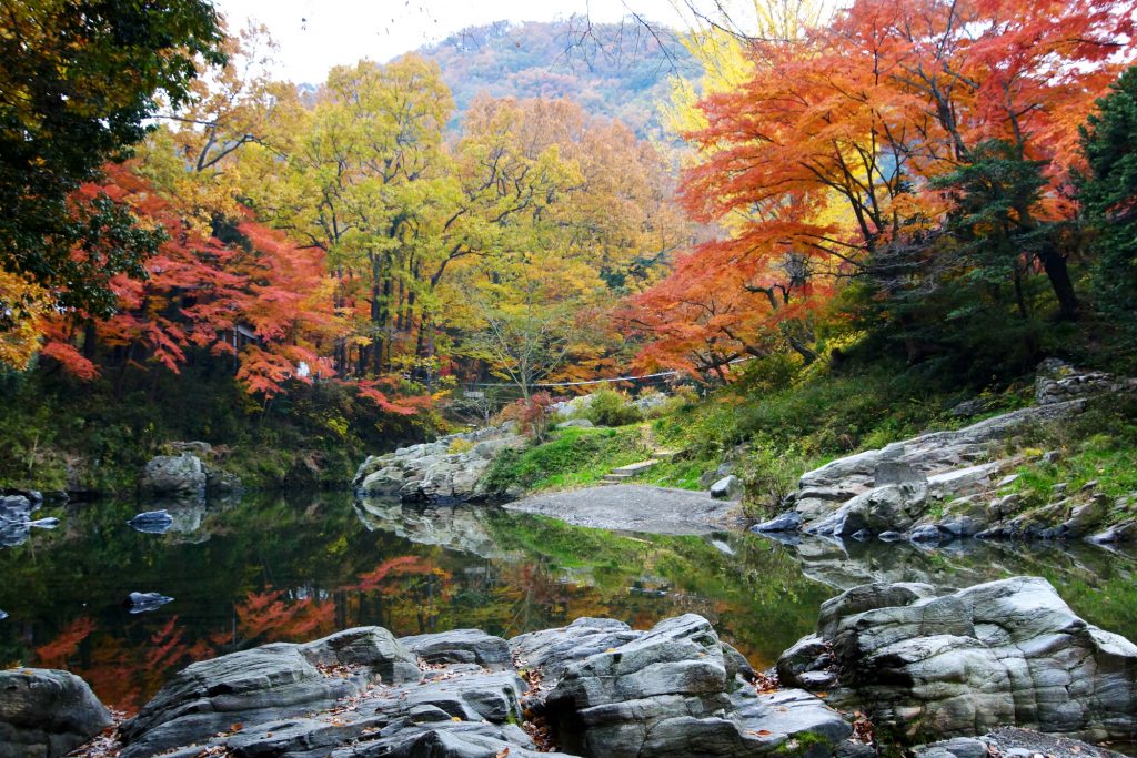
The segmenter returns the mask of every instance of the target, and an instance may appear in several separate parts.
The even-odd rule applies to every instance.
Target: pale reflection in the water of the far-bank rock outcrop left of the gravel
[[[492,514],[471,506],[404,505],[392,498],[360,498],[356,515],[368,531],[390,532],[418,544],[437,544],[482,558],[513,560],[498,547],[487,519]]]

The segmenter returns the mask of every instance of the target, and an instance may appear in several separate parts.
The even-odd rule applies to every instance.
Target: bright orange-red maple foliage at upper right
[[[681,197],[723,226],[625,318],[648,365],[708,370],[779,341],[841,277],[949,210],[931,180],[991,139],[1044,161],[1036,218],[1072,213],[1078,124],[1126,58],[1137,1],[857,0],[831,26],[756,41],[753,76],[700,102]],[[1119,55],[1122,53],[1122,55]]]

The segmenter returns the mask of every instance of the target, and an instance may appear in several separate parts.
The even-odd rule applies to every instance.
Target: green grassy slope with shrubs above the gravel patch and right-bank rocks
[[[675,398],[653,420],[556,432],[548,442],[499,459],[491,477],[503,490],[587,486],[654,449],[669,449],[680,455],[638,483],[702,489],[700,476],[732,458],[747,484],[747,505],[758,515],[775,508],[804,472],[829,460],[974,420],[949,410],[972,395],[887,361],[755,370],[708,398]],[[989,398],[988,413],[1024,405],[1029,397],[1026,385],[1012,386]]]

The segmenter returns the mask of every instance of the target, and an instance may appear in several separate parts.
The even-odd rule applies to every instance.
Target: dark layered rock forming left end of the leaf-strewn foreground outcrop
[[[342,666],[325,676],[317,666]],[[414,656],[390,632],[363,627],[308,644],[277,642],[191,664],[126,720],[123,758],[202,742],[233,724],[258,724],[331,709],[368,684],[418,678]]]

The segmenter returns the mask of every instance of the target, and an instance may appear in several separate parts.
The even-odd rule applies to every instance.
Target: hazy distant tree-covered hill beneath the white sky
[[[459,113],[479,92],[566,97],[644,136],[658,130],[667,77],[692,66],[680,44],[667,39],[664,44],[634,22],[586,26],[574,17],[472,26],[418,52],[438,60]]]

